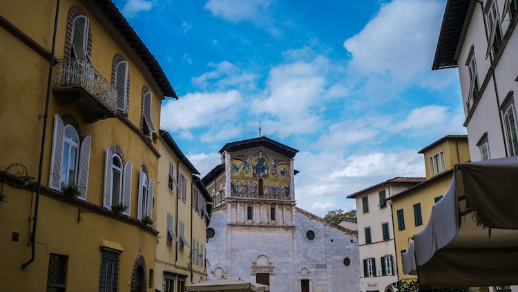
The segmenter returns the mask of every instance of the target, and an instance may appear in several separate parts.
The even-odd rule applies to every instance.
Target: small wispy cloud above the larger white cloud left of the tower
[[[238,66],[231,64],[229,61],[222,61],[219,64],[209,63],[209,67],[215,68],[210,72],[205,72],[199,77],[192,77],[191,81],[195,86],[207,88],[209,84],[218,88],[228,88],[229,86],[247,86],[247,88],[255,88],[253,84],[256,75],[242,72]]]

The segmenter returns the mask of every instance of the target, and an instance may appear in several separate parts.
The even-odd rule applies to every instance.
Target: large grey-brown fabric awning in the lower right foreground
[[[421,289],[518,284],[518,157],[457,164],[412,245]]]

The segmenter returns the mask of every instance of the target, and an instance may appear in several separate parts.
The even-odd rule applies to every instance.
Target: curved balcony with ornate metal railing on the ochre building
[[[86,124],[117,117],[117,89],[86,59],[59,60],[52,90],[57,104],[79,108]]]

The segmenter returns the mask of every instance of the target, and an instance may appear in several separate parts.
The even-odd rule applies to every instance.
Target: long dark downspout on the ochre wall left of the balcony
[[[48,102],[50,101],[50,86],[52,85],[52,69],[54,67],[54,52],[56,48],[56,32],[57,32],[57,16],[59,14],[59,0],[56,4],[56,18],[54,20],[54,35],[52,36],[52,51],[50,52],[50,66],[48,68],[48,83],[47,83],[47,99],[45,103],[45,115],[44,115],[44,128],[41,135],[41,150],[39,151],[39,169],[38,169],[38,183],[36,188],[36,202],[34,210],[34,223],[32,223],[32,234],[30,235],[30,242],[32,245],[32,257],[28,262],[21,266],[21,269],[25,269],[31,262],[35,260],[35,242],[36,242],[36,223],[38,220],[38,206],[39,206],[39,194],[41,193],[41,170],[43,168],[44,150],[45,150],[45,137],[47,133],[47,120],[48,120]]]

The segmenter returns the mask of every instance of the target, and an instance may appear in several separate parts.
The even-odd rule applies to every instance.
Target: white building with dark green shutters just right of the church
[[[398,281],[398,267],[392,209],[385,199],[423,181],[424,178],[394,177],[347,196],[356,199],[362,292],[392,292],[390,284]]]

